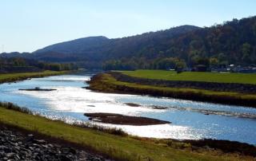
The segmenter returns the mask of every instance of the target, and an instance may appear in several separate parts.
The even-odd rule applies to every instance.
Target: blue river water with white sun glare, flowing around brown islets
[[[122,128],[130,135],[172,139],[228,139],[256,144],[256,119],[252,119],[256,116],[256,108],[92,92],[82,88],[88,86],[85,81],[90,80],[90,77],[92,74],[84,73],[0,84],[0,101],[12,102],[42,116],[65,120],[68,123],[89,121],[86,116],[83,116],[85,112],[146,116],[172,123],[150,126],[100,124],[110,128]],[[48,92],[18,90],[35,87],[57,90]],[[130,107],[126,103],[141,106]],[[241,118],[240,116],[252,117]]]

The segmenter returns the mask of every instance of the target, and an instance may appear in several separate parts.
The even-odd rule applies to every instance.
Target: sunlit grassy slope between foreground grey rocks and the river
[[[194,152],[178,150],[149,141],[132,139],[118,135],[110,135],[91,129],[72,127],[62,122],[46,120],[39,116],[31,116],[0,108],[0,123],[39,132],[58,139],[79,143],[93,150],[126,160],[250,160],[252,158],[231,154],[221,154],[218,151]]]

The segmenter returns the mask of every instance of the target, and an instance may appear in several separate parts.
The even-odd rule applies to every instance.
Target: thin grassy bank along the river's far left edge
[[[46,70],[44,72],[39,73],[10,73],[10,74],[0,74],[0,83],[12,82],[12,81],[22,81],[27,78],[33,77],[47,77],[54,75],[62,75],[69,73],[69,71],[50,71]]]

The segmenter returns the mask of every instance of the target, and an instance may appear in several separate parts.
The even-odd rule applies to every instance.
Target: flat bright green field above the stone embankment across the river
[[[166,70],[135,70],[122,71],[130,77],[142,77],[166,81],[206,81],[218,83],[256,84],[255,73],[207,73],[183,72],[176,73]]]

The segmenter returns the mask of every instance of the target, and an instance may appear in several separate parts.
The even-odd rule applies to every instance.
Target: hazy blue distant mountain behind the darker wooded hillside
[[[170,38],[200,29],[196,26],[178,26],[157,32],[143,33],[132,37],[108,39],[106,37],[85,37],[66,41],[34,52],[37,59],[44,61],[96,61],[102,62],[122,57],[134,57],[142,49],[161,47]]]

